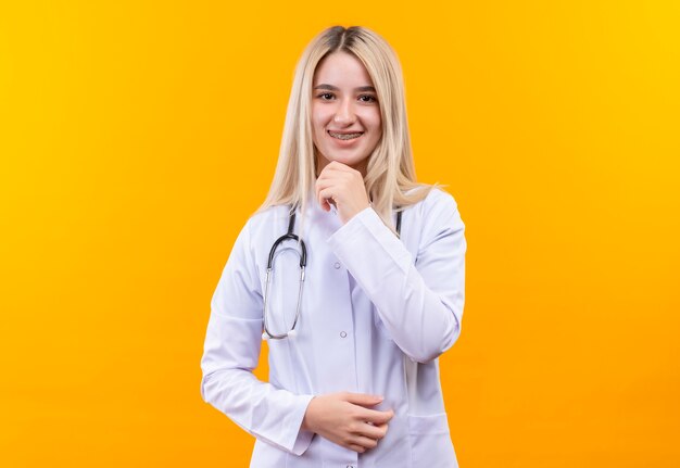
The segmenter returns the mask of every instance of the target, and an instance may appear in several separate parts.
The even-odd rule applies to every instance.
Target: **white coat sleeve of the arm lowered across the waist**
[[[313,437],[301,430],[313,395],[277,389],[252,374],[262,344],[261,291],[247,224],[211,302],[201,395],[259,440],[302,455]]]

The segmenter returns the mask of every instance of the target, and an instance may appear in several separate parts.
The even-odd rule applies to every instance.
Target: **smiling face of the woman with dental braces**
[[[362,62],[347,52],[327,55],[316,67],[312,137],[317,174],[331,161],[366,174],[382,127],[377,93]]]

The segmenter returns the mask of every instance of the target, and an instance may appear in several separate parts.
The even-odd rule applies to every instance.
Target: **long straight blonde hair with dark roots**
[[[314,72],[324,58],[338,51],[356,56],[376,88],[382,136],[368,157],[364,184],[373,208],[394,230],[392,210],[419,202],[435,186],[416,181],[399,59],[382,37],[360,26],[330,27],[304,50],[295,67],[274,180],[257,212],[290,204],[300,206],[304,217],[316,180],[311,118]]]

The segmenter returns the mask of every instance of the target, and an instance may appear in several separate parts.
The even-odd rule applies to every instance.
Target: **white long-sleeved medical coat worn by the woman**
[[[302,237],[307,266],[297,334],[269,340],[269,379],[254,377],[272,244],[288,207],[252,216],[212,300],[201,361],[203,399],[256,438],[251,467],[457,467],[438,356],[461,333],[465,226],[454,199],[433,189],[403,212],[401,239],[367,207],[345,225],[315,201]],[[295,232],[300,233],[298,213]],[[275,258],[268,324],[290,329],[298,302],[294,241]],[[383,395],[387,435],[363,454],[300,429],[313,395]]]

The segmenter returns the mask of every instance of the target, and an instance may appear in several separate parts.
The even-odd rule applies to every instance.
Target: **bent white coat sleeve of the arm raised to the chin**
[[[461,333],[467,249],[453,197],[433,189],[423,203],[415,262],[372,207],[328,239],[390,337],[418,363],[438,357]]]

